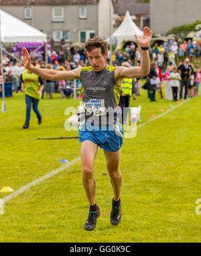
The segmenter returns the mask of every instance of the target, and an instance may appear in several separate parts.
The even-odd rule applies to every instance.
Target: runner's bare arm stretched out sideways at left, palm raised
[[[72,80],[76,78],[80,78],[81,68],[76,68],[71,71],[56,71],[50,70],[46,68],[38,68],[31,64],[31,57],[25,47],[22,48],[23,54],[23,66],[33,72],[34,74],[38,74],[42,78],[56,81],[56,80]]]

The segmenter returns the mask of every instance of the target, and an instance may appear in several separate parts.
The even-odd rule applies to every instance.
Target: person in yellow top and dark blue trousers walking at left
[[[23,129],[29,127],[29,120],[31,117],[31,103],[33,104],[33,110],[38,117],[38,124],[42,123],[42,115],[38,110],[38,103],[42,97],[42,90],[44,88],[44,82],[40,76],[25,69],[21,75],[21,91],[25,93],[26,103],[26,118]]]

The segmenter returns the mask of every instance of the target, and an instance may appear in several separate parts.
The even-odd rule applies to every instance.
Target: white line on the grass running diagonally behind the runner
[[[147,123],[151,123],[152,121],[155,121],[156,119],[159,119],[159,117],[163,117],[164,115],[167,115],[167,113],[170,113],[170,111],[173,111],[177,107],[180,107],[180,106],[184,105],[184,103],[188,102],[189,100],[190,99],[188,99],[186,101],[183,101],[182,103],[176,105],[175,107],[172,107],[171,109],[167,109],[167,111],[165,111],[161,115],[158,115],[157,117],[153,117],[153,119],[149,119],[148,121],[145,121],[145,123],[142,123],[141,125],[137,125],[137,129],[140,128],[140,127],[143,127],[144,125],[147,125]],[[68,168],[68,167],[72,166],[73,164],[75,164],[76,162],[80,161],[80,159],[81,159],[80,157],[76,157],[75,159],[68,162],[64,166],[61,166],[60,168],[57,168],[56,170],[53,170],[52,172],[49,172],[48,174],[42,176],[41,178],[38,178],[38,179],[34,180],[33,182],[30,182],[30,183],[26,184],[25,186],[19,188],[19,190],[13,192],[12,194],[9,194],[9,196],[5,196],[5,198],[0,199],[0,214],[4,214],[3,205],[5,204],[5,202],[8,202],[12,198],[15,198],[16,196],[19,196],[19,194],[22,194],[23,192],[25,192],[29,188],[40,184],[44,180],[47,180],[47,179],[53,177],[54,175],[58,174],[59,172],[62,172],[66,168]]]

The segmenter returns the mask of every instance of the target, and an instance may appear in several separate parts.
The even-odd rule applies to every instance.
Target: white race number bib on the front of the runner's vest
[[[84,109],[96,117],[100,115],[105,115],[105,100],[91,99],[83,105]]]

